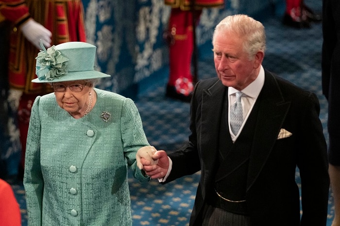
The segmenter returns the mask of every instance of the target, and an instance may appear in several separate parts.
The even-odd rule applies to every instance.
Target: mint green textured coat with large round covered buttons
[[[24,174],[29,226],[132,225],[127,169],[150,180],[136,166],[137,150],[149,143],[131,99],[95,91],[96,105],[78,120],[54,93],[33,104]]]

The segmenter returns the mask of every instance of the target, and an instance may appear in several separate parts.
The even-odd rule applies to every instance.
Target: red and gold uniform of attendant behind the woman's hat
[[[31,82],[36,78],[35,57],[39,50],[17,28],[33,18],[51,31],[51,45],[85,42],[84,8],[81,0],[0,0],[0,13],[15,25],[10,34],[8,80],[11,88],[23,91],[18,109],[23,167],[32,104],[37,95],[53,90],[49,85]]]

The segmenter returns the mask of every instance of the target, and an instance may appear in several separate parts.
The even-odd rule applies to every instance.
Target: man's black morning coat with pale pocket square
[[[169,154],[173,165],[165,183],[201,170],[190,226],[202,225],[202,209],[214,192],[219,127],[221,118],[226,117],[221,112],[228,101],[224,98],[227,91],[218,78],[196,84],[189,140]],[[326,226],[327,147],[317,96],[265,70],[264,86],[255,104],[258,113],[245,191],[251,226]],[[277,139],[282,128],[292,135]],[[301,220],[296,167],[301,176]]]

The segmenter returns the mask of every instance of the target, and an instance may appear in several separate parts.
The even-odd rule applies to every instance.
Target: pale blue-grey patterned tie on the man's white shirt
[[[230,108],[230,126],[231,131],[234,135],[238,134],[239,128],[241,128],[243,122],[243,114],[242,114],[242,104],[241,97],[243,93],[238,91],[236,93],[236,102]]]

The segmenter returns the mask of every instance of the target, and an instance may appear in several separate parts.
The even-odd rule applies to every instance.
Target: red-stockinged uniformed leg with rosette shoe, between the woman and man
[[[191,2],[194,2],[193,6]],[[203,8],[222,7],[224,0],[165,0],[165,4],[172,7],[169,19],[171,41],[167,96],[188,101],[193,90],[193,20],[198,22]]]

